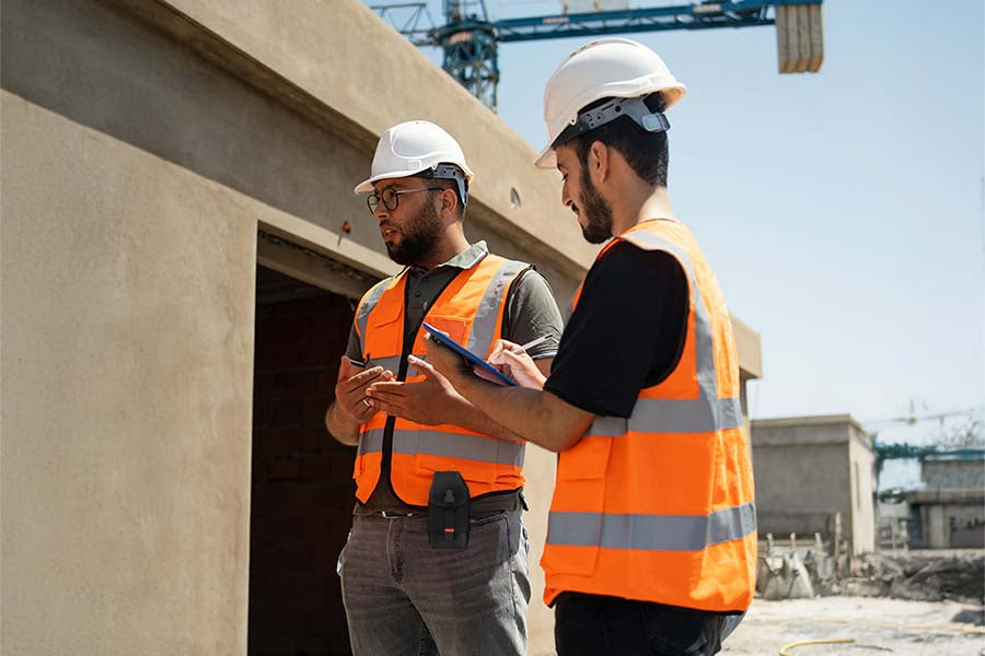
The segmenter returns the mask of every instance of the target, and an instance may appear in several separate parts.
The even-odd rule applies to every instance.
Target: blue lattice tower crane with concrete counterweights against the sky
[[[702,0],[675,7],[565,12],[499,21],[489,20],[485,0],[442,1],[441,25],[436,25],[427,2],[396,2],[372,9],[414,45],[440,47],[444,54],[442,68],[494,112],[500,43],[776,25],[780,73],[818,72],[824,58],[823,0]],[[626,0],[623,3],[628,4]],[[612,7],[618,0],[595,0],[593,4]]]

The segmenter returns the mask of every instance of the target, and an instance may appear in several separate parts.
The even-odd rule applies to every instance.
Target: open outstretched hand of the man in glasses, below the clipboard
[[[410,355],[407,362],[424,375],[424,380],[375,382],[366,393],[370,406],[386,414],[426,425],[460,423],[457,413],[467,405],[462,395],[424,360]]]

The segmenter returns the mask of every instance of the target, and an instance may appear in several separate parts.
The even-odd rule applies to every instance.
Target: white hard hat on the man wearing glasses
[[[454,175],[450,166],[462,169]],[[410,120],[393,126],[380,137],[370,177],[356,185],[356,194],[369,194],[373,183],[391,178],[407,177],[427,172],[429,177],[454,179],[459,183],[459,196],[465,202],[466,183],[473,178],[472,169],[465,163],[462,147],[441,127],[426,120]]]

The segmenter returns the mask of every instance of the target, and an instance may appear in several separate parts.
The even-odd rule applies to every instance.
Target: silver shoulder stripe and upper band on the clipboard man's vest
[[[711,321],[702,297],[697,277],[687,253],[648,231],[623,237],[640,248],[665,250],[675,255],[687,272],[695,315],[695,366],[697,367],[697,399],[637,399],[629,419],[596,417],[587,435],[618,436],[627,430],[645,433],[707,433],[743,425],[742,403],[738,398],[719,399],[715,371],[715,347]]]

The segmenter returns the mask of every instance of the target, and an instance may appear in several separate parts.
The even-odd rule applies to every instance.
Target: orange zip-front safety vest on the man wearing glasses
[[[529,265],[486,255],[459,273],[427,309],[424,320],[447,331],[476,354],[488,356],[501,336],[502,316],[512,282]],[[383,366],[399,380],[407,375],[407,355],[425,358],[419,326],[405,326],[407,271],[373,286],[356,311],[356,331],[366,366]],[[406,348],[407,341],[413,343]],[[386,454],[391,482],[399,499],[427,505],[436,471],[459,471],[471,496],[523,487],[524,444],[484,435],[452,424],[429,426],[378,412],[359,430],[356,496],[366,503],[380,480]]]

